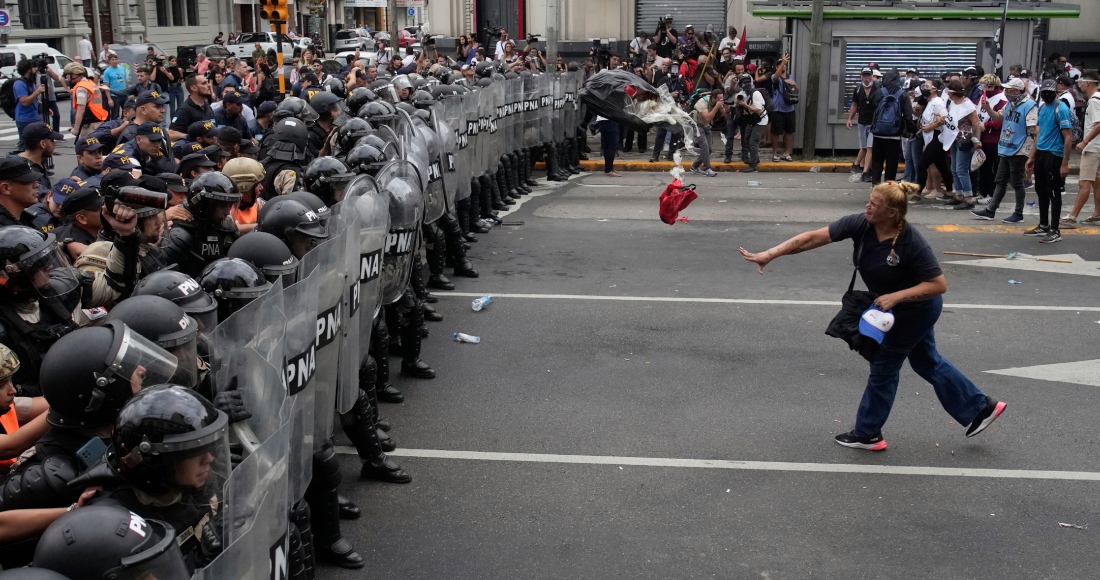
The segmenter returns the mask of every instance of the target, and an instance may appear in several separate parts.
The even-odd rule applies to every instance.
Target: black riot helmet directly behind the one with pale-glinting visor
[[[176,357],[169,380],[195,389],[199,384],[199,324],[183,308],[160,296],[131,296],[117,304],[105,321],[119,320]]]

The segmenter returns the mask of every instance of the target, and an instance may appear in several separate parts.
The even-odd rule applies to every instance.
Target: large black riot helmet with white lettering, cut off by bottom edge
[[[58,574],[53,578],[187,580],[191,577],[170,524],[145,519],[112,503],[86,505],[62,514],[38,538],[31,566],[25,570],[51,570]],[[7,572],[0,576],[9,578]]]

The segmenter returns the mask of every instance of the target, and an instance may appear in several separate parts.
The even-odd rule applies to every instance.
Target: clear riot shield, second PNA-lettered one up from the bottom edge
[[[308,255],[308,254],[307,254]],[[314,475],[314,376],[317,374],[316,266],[299,263],[298,282],[283,289],[283,381],[290,397],[290,502],[301,500]]]

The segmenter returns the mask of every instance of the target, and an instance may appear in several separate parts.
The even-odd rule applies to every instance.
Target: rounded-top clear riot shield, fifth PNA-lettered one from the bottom
[[[397,302],[413,274],[413,254],[417,249],[424,219],[424,195],[416,167],[407,161],[388,163],[374,177],[378,195],[389,206],[389,231],[382,255],[382,304]]]

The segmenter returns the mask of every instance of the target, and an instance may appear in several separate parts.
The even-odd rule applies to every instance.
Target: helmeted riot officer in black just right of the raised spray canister
[[[229,247],[240,237],[230,212],[241,200],[237,185],[226,174],[204,173],[191,182],[184,207],[191,221],[174,222],[162,248],[179,271],[190,276],[226,256]]]

